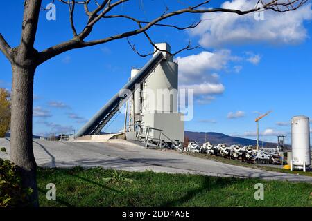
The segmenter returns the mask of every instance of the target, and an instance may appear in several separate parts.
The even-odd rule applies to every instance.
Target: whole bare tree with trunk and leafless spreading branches
[[[237,15],[245,15],[250,12],[257,12],[259,10],[274,10],[276,12],[286,12],[295,10],[302,6],[307,0],[288,0],[288,1],[258,1],[257,6],[248,10],[236,10],[229,8],[208,8],[210,1],[198,1],[194,6],[187,6],[179,10],[170,10],[166,8],[164,12],[155,17],[151,21],[141,21],[136,17],[130,15],[115,15],[115,8],[121,6],[126,7],[128,4],[137,4],[135,0],[58,0],[69,8],[69,23],[73,32],[73,37],[68,41],[64,41],[50,48],[46,48],[38,52],[34,48],[35,36],[37,32],[37,24],[42,9],[42,0],[24,0],[24,18],[21,26],[21,41],[19,46],[12,48],[6,39],[0,34],[0,50],[10,61],[12,66],[12,115],[11,115],[11,160],[21,171],[22,182],[25,187],[33,189],[31,202],[33,206],[38,206],[37,200],[37,183],[36,183],[36,162],[33,155],[33,140],[32,140],[32,115],[33,115],[33,79],[37,66],[48,61],[52,57],[73,50],[76,48],[84,48],[95,46],[98,44],[105,44],[116,39],[125,39],[134,35],[143,34],[146,36],[150,44],[155,46],[148,30],[153,26],[162,26],[164,28],[176,28],[177,30],[184,30],[187,28],[195,28],[200,21],[190,26],[180,27],[168,23],[162,23],[170,17],[187,13],[213,13],[213,12],[228,12]],[[53,0],[54,2],[54,0]],[[78,31],[74,23],[74,11],[77,6],[82,6],[87,16],[87,23],[85,27]],[[160,7],[160,5],[159,5]],[[94,8],[90,10],[90,8]],[[80,15],[81,16],[81,15]],[[103,36],[101,39],[92,41],[85,41],[92,33],[92,29],[103,19],[115,19],[116,23],[120,20],[127,19],[133,21],[137,28],[130,31],[121,32],[116,35]],[[128,40],[129,44],[130,41]],[[131,44],[130,44],[131,45]],[[131,45],[135,50],[135,46]],[[178,50],[190,50],[191,44]],[[137,52],[137,50],[135,50]],[[141,56],[141,53],[137,52]]]

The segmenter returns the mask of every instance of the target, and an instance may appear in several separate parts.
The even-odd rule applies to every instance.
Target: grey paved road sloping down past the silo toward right
[[[8,154],[0,152],[0,157],[9,158],[9,140],[0,139],[0,147],[5,146]],[[233,166],[212,160],[191,157],[176,151],[157,151],[136,146],[95,142],[53,142],[33,141],[35,159],[39,166],[84,167],[101,166],[105,169],[167,173],[194,173],[222,177],[259,177],[266,180],[289,180],[311,182],[312,177],[276,173]]]

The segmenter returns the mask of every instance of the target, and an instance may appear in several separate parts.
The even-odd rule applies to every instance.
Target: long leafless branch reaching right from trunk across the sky
[[[64,1],[59,0],[62,3],[66,4],[72,4],[73,0],[71,1]],[[47,48],[46,50],[43,50],[40,52],[40,59],[39,64],[46,61],[47,59],[50,59],[51,57],[54,57],[55,55],[59,55],[61,52],[65,52],[67,50],[71,50],[73,48],[83,48],[87,46],[95,46],[97,44],[103,44],[107,43],[109,41],[114,41],[116,39],[123,39],[128,38],[133,35],[139,35],[141,33],[144,33],[146,35],[146,31],[149,30],[152,26],[164,26],[169,28],[176,28],[178,30],[184,30],[187,28],[195,28],[198,26],[200,21],[198,23],[194,23],[191,26],[187,27],[180,27],[165,23],[160,23],[161,21],[164,21],[170,17],[174,17],[177,15],[182,14],[203,14],[203,13],[213,13],[213,12],[228,12],[228,13],[234,13],[237,15],[245,15],[250,12],[257,12],[260,10],[274,10],[276,12],[286,12],[289,10],[295,10],[302,6],[306,1],[308,0],[293,0],[293,1],[278,1],[278,0],[272,0],[272,1],[263,1],[259,0],[258,4],[254,8],[250,8],[248,10],[237,10],[237,9],[229,9],[229,8],[203,8],[203,6],[207,5],[210,1],[202,1],[202,3],[197,4],[196,6],[189,6],[187,8],[182,8],[180,10],[175,10],[172,12],[168,11],[168,8],[160,15],[159,17],[153,19],[152,21],[141,21],[139,19],[136,19],[135,17],[130,17],[128,15],[107,15],[108,12],[110,12],[113,8],[116,6],[119,6],[121,3],[128,2],[129,0],[103,0],[102,3],[98,3],[98,1],[94,1],[96,4],[96,9],[93,11],[89,11],[88,4],[90,3],[90,0],[87,1],[76,1],[76,3],[80,3],[84,5],[86,15],[89,17],[87,21],[87,25],[85,28],[83,28],[82,32],[80,34],[77,34],[78,37],[73,38],[69,41],[66,41],[62,44],[58,44],[56,46],[52,46],[50,48]],[[92,41],[84,41],[84,39],[89,36],[89,34],[92,32],[92,29],[94,25],[100,21],[101,19],[113,19],[113,18],[124,18],[124,19],[130,19],[132,21],[135,21],[137,24],[139,24],[139,28],[130,30],[127,32],[122,32],[116,35],[112,35],[109,37],[105,37],[103,39],[95,39]],[[141,26],[144,25],[144,26]],[[129,41],[129,40],[128,40]],[[130,41],[129,41],[130,43]],[[130,44],[131,45],[131,44]],[[186,48],[191,48],[186,47]],[[186,50],[186,48],[182,48]],[[132,48],[133,49],[133,48]]]

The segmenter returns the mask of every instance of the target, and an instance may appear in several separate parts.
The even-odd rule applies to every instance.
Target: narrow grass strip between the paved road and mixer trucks
[[[299,174],[299,175],[306,175],[306,176],[312,177],[312,171],[306,171],[306,172],[304,172],[304,171],[291,171],[288,169],[282,169],[282,168],[276,168],[276,167],[270,167],[270,166],[261,166],[261,165],[257,165],[257,164],[250,164],[250,163],[246,163],[246,162],[241,162],[239,160],[230,160],[228,158],[219,157],[219,156],[215,156],[215,155],[202,154],[202,153],[186,152],[183,154],[191,155],[193,157],[200,157],[200,158],[205,158],[205,159],[209,159],[209,160],[215,160],[218,162],[223,162],[225,164],[231,164],[231,165],[236,165],[236,166],[245,166],[245,167],[250,167],[250,168],[254,168],[254,169],[261,169],[264,171],[273,171],[273,172],[279,172],[279,173],[291,173],[291,174]]]

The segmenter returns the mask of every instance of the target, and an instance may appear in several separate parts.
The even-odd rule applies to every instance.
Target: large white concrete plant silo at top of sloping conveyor
[[[141,125],[162,130],[165,142],[184,142],[184,121],[178,113],[178,64],[168,53],[171,47],[167,43],[155,44],[166,58],[153,70],[144,81],[141,113]],[[157,50],[154,48],[154,50]],[[155,56],[155,54],[154,54]],[[151,130],[150,137],[159,137],[160,132]],[[168,139],[170,138],[170,139]]]

